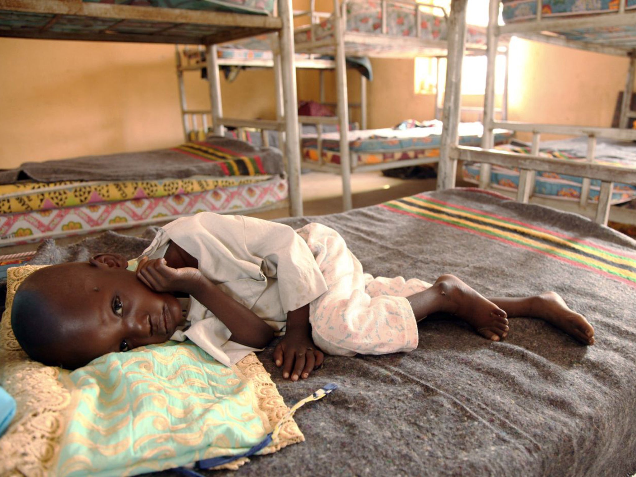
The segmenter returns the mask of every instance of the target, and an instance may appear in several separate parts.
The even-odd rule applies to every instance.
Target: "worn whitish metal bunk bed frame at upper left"
[[[40,29],[0,29],[0,36],[13,38],[69,39],[84,41],[121,41],[204,45],[207,55],[216,58],[216,45],[227,41],[266,33],[277,33],[277,93],[279,118],[275,121],[246,121],[223,116],[218,68],[210,74],[212,121],[214,132],[222,135],[224,126],[253,126],[284,132],[287,137],[284,156],[287,159],[289,213],[303,214],[300,193],[300,151],[298,144],[298,111],[296,110],[296,76],[294,69],[293,15],[291,0],[277,0],[278,14],[252,15],[226,11],[184,10],[159,6],[86,3],[81,0],[0,0],[0,13],[46,15],[50,21]],[[99,31],[56,32],[51,28],[69,18],[99,19]],[[120,28],[132,21],[144,32]]]

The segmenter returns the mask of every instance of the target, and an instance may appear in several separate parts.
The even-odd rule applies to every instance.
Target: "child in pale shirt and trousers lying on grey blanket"
[[[324,353],[407,352],[417,322],[453,314],[499,341],[507,317],[537,317],[594,343],[586,319],[556,293],[487,300],[452,275],[434,284],[373,278],[333,229],[202,212],[160,229],[136,270],[117,254],[41,268],[20,286],[11,325],[32,359],[76,368],[109,352],[189,338],[236,363],[273,352],[284,378],[307,378]],[[134,266],[130,267],[134,268]],[[175,294],[190,296],[182,307]]]

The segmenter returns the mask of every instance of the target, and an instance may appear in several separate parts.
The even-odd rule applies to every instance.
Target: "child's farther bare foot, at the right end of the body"
[[[594,328],[585,317],[565,304],[558,293],[549,291],[532,298],[532,316],[542,318],[584,345],[594,344]]]

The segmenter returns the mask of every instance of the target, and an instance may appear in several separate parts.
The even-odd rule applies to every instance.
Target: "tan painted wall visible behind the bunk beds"
[[[626,59],[527,41],[516,48],[525,56],[511,60],[511,120],[610,124]],[[523,57],[527,61],[520,64]],[[0,68],[0,167],[163,148],[183,140],[170,45],[0,38]],[[369,127],[433,118],[434,97],[413,92],[413,60],[374,59],[373,73]],[[357,101],[359,75],[348,76],[350,97]],[[189,81],[198,82],[191,106],[208,104],[205,82]],[[335,101],[333,73],[326,81],[327,100]],[[242,71],[233,83],[223,80],[226,114],[273,118],[272,85],[270,70]],[[319,99],[318,73],[300,71],[298,91],[300,99]],[[357,113],[352,119],[359,120]]]

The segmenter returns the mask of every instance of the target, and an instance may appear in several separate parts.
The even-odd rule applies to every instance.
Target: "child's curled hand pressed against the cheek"
[[[165,263],[164,258],[148,259],[148,257],[139,261],[136,273],[139,280],[161,293],[174,291],[190,293],[202,277],[197,268],[172,268]]]

